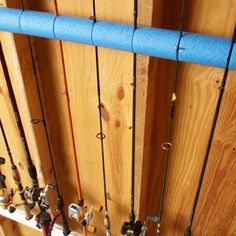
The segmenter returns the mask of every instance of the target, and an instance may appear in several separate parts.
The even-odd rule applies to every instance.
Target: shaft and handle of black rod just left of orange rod
[[[20,1],[21,1],[22,9],[25,10],[23,0],[20,0]],[[30,51],[30,56],[31,56],[31,64],[32,64],[33,73],[35,76],[36,89],[37,89],[37,93],[38,93],[38,97],[39,97],[39,104],[40,104],[40,109],[41,109],[41,114],[42,114],[42,120],[40,120],[40,121],[42,121],[44,130],[45,130],[46,141],[47,141],[47,146],[48,146],[48,151],[49,151],[49,158],[50,158],[50,162],[52,165],[52,171],[53,171],[53,176],[54,176],[54,181],[55,181],[55,189],[57,191],[57,210],[59,211],[59,214],[57,214],[56,217],[58,217],[59,215],[61,216],[61,222],[62,222],[62,226],[63,226],[63,234],[69,235],[70,229],[69,229],[68,221],[66,219],[66,215],[65,215],[65,212],[63,209],[64,208],[64,200],[63,200],[63,197],[62,197],[62,194],[60,191],[60,187],[59,187],[59,183],[58,183],[58,179],[57,179],[57,174],[56,174],[55,163],[54,163],[53,154],[52,154],[52,149],[51,149],[51,145],[50,145],[50,141],[49,141],[50,139],[49,139],[49,132],[47,129],[47,124],[46,124],[46,115],[45,115],[45,111],[43,108],[42,95],[41,95],[41,91],[40,91],[39,80],[38,80],[36,65],[35,65],[35,61],[34,61],[34,54],[33,54],[33,48],[32,48],[32,44],[31,44],[30,36],[27,36],[27,39],[28,39],[29,51]],[[50,186],[50,185],[47,185],[47,187],[48,186]],[[47,195],[47,191],[44,192],[43,197],[46,197],[46,195]],[[52,230],[52,226],[53,226],[54,222],[55,222],[55,219],[51,221],[51,226],[50,226],[49,231],[47,232],[47,235],[49,235],[49,233],[51,233],[50,230]],[[39,223],[41,223],[41,222],[39,222]]]

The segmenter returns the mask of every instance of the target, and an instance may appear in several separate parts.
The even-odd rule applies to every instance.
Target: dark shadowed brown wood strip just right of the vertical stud
[[[160,0],[149,3],[149,19],[146,21],[154,27],[178,28],[179,9],[180,1]],[[168,138],[175,71],[175,63],[172,61],[158,58],[149,60],[140,199],[140,218],[143,221],[148,215],[160,213],[165,161],[165,152],[161,145]],[[154,235],[155,232],[156,224],[149,222],[147,234]]]

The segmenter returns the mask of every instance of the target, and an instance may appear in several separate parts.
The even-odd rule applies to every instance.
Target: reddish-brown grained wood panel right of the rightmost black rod
[[[235,78],[236,72],[231,72],[194,220],[196,235],[236,232]]]

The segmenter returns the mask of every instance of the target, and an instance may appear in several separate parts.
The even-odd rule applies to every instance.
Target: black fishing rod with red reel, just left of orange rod
[[[21,0],[21,5],[22,5],[22,9],[24,10],[24,3]],[[40,213],[36,216],[36,222],[37,222],[37,227],[42,229],[43,234],[45,236],[51,236],[51,231],[53,229],[53,226],[56,222],[56,220],[61,217],[61,223],[62,223],[62,228],[63,228],[63,234],[64,235],[69,235],[70,234],[70,229],[69,229],[69,224],[66,218],[66,214],[64,212],[64,200],[59,188],[59,183],[57,180],[57,174],[56,174],[56,169],[55,169],[55,163],[54,163],[54,159],[53,159],[53,154],[52,154],[52,149],[51,149],[51,145],[50,145],[50,141],[49,141],[49,132],[47,129],[47,124],[46,124],[46,115],[44,112],[44,108],[43,108],[43,102],[42,102],[42,95],[40,92],[40,87],[39,87],[39,81],[38,81],[38,75],[37,75],[37,71],[36,71],[36,65],[34,62],[34,56],[33,56],[33,48],[32,48],[32,44],[31,44],[31,40],[30,37],[27,36],[28,39],[28,44],[29,44],[29,51],[30,51],[30,56],[31,56],[31,62],[32,62],[32,68],[33,68],[33,73],[35,76],[35,80],[36,80],[36,88],[37,88],[37,93],[38,93],[38,97],[39,97],[39,103],[40,103],[40,109],[41,109],[41,114],[42,114],[42,123],[43,123],[43,127],[45,130],[45,135],[46,135],[46,140],[47,140],[47,145],[48,145],[48,150],[49,150],[49,158],[50,158],[50,162],[52,165],[52,172],[53,172],[53,177],[54,177],[54,181],[55,181],[55,186],[51,185],[51,184],[47,184],[46,187],[44,189],[41,190],[40,195],[38,197],[38,199],[40,200]],[[33,120],[33,124],[37,123],[39,120]],[[56,203],[56,210],[57,212],[55,214],[53,214],[53,217],[51,216],[51,214],[48,212],[49,210],[49,204],[47,202],[47,195],[49,190],[56,190],[57,192],[57,203]]]

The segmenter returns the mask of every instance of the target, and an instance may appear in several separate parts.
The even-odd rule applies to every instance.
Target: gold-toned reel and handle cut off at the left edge
[[[14,191],[6,186],[6,176],[2,174],[1,166],[5,164],[5,158],[0,157],[0,206],[7,209],[13,201]]]

